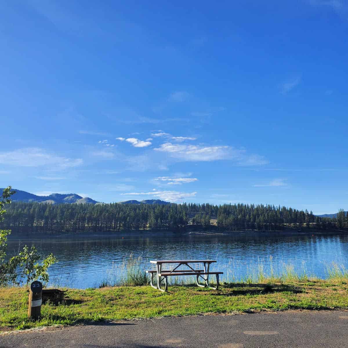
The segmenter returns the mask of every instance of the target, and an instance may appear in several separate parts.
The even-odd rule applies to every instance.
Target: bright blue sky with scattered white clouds
[[[11,1],[0,187],[347,209],[348,3]]]

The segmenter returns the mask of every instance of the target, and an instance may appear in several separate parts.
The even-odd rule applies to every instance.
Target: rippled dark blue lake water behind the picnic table
[[[18,240],[9,240],[9,252],[18,250]],[[50,267],[50,284],[87,288],[106,278],[121,276],[122,262],[131,253],[141,256],[144,268],[149,260],[214,259],[222,280],[239,280],[263,272],[281,274],[285,265],[294,271],[326,278],[332,262],[348,268],[348,236],[268,234],[124,234],[117,237],[88,236],[85,239],[54,237],[21,240],[34,244],[42,255],[53,253],[58,263]],[[292,267],[291,266],[291,267]]]

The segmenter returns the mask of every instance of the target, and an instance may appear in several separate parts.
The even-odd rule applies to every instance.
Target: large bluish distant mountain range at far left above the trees
[[[0,189],[0,195],[2,194],[3,189]],[[21,191],[14,189],[16,193],[11,196],[13,201],[21,202],[38,202],[38,203],[51,203],[51,204],[60,204],[60,203],[89,203],[96,204],[97,201],[89,197],[81,197],[76,193],[67,193],[62,195],[61,193],[52,193],[49,196],[38,196],[33,193],[26,191]]]

